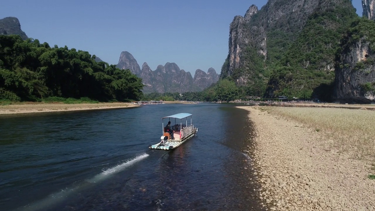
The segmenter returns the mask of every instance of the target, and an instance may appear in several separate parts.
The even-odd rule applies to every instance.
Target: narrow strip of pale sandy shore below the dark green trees
[[[64,103],[32,103],[32,104],[11,104],[0,105],[0,115],[23,114],[23,113],[45,113],[45,112],[67,112],[67,111],[84,111],[99,109],[124,109],[134,108],[135,105],[130,102],[103,102],[103,103],[81,103],[81,104],[64,104]]]

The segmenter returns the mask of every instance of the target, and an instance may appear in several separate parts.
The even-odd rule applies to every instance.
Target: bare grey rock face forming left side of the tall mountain
[[[302,30],[319,1],[269,0],[260,11],[251,5],[244,17],[234,17],[221,77],[234,75],[238,85],[267,77],[266,62],[273,62],[276,54],[287,50],[288,43]]]

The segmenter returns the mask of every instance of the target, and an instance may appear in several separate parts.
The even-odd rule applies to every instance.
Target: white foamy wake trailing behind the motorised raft
[[[91,178],[87,181],[90,182],[90,183],[99,182],[99,181],[107,178],[108,176],[112,175],[113,173],[120,172],[121,170],[124,170],[126,167],[129,167],[129,166],[143,160],[146,157],[148,157],[148,154],[146,154],[146,153],[142,154],[142,155],[139,155],[139,156],[137,156],[137,157],[135,157],[131,160],[128,160],[124,163],[121,163],[118,166],[115,166],[113,168],[105,170],[104,172],[99,173],[98,175],[94,176],[93,178]],[[60,192],[50,194],[45,199],[42,199],[42,200],[40,200],[38,202],[35,202],[31,205],[26,205],[23,208],[15,209],[15,211],[16,210],[22,210],[22,211],[43,210],[46,207],[51,206],[54,203],[60,202],[61,200],[65,199],[65,197],[67,197],[69,194],[73,193],[74,191],[78,191],[81,188],[87,187],[90,183],[84,183],[84,184],[78,185],[77,187],[72,188],[72,189],[66,188],[65,190],[61,190]]]

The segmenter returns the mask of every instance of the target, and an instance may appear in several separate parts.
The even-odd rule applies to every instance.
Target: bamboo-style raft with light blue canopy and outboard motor
[[[171,126],[171,129],[173,130],[173,139],[171,139],[171,135],[168,133],[168,131],[166,131],[166,128],[164,127],[163,121],[167,118],[168,118],[168,121],[171,121],[171,119],[173,121],[174,119],[174,125]],[[188,118],[190,119],[190,125],[188,125]],[[180,120],[180,124],[176,124],[176,119]],[[185,119],[186,119],[186,122],[184,122]],[[154,145],[150,145],[148,148],[164,149],[164,150],[175,149],[178,146],[180,146],[182,143],[191,139],[198,132],[198,128],[195,128],[194,125],[192,124],[192,114],[190,113],[177,113],[175,115],[163,117],[162,126],[163,126],[163,133],[162,133],[163,135],[160,137],[160,142]]]

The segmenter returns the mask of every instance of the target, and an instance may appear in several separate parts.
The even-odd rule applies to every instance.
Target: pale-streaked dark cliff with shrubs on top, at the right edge
[[[353,33],[351,33],[352,31]],[[375,102],[375,22],[352,24],[338,56],[335,98],[341,102]]]

